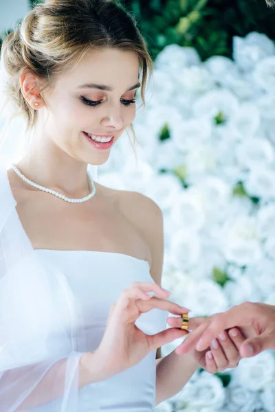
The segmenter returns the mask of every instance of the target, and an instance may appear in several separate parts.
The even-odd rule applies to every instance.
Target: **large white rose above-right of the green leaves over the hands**
[[[222,249],[225,258],[239,266],[261,259],[262,250],[254,218],[236,216],[225,222]]]

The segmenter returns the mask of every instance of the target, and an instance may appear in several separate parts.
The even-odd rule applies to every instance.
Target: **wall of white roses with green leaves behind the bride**
[[[146,108],[98,181],[153,198],[164,214],[163,286],[208,315],[243,301],[275,304],[275,46],[252,32],[232,59],[201,62],[169,45],[157,56]],[[173,351],[182,339],[163,347]],[[275,411],[275,356],[236,369],[198,369],[159,412]]]

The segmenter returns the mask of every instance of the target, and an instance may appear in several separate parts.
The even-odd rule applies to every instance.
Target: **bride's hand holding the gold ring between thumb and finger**
[[[155,293],[158,297],[148,295]],[[147,335],[137,328],[135,321],[153,308],[180,315],[186,308],[167,300],[169,293],[151,282],[133,282],[120,294],[110,308],[106,330],[96,358],[102,365],[105,378],[118,374],[142,361],[151,351],[187,334],[179,328],[169,328]]]

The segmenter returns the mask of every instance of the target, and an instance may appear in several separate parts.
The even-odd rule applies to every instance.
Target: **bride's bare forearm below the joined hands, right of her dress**
[[[164,358],[157,359],[155,404],[175,396],[186,385],[197,367],[199,364],[190,354],[179,356],[173,351]]]

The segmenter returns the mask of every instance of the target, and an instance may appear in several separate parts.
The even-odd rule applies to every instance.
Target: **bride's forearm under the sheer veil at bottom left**
[[[14,412],[25,411],[61,398],[64,395],[68,369],[77,374],[76,390],[108,378],[97,361],[96,352],[76,354],[69,359],[52,361],[52,364],[49,362],[47,369],[45,363],[37,363],[3,371],[0,378],[0,411],[10,410],[13,400],[18,399],[21,394],[24,400],[17,409],[12,409]],[[42,370],[46,372],[43,374]]]

